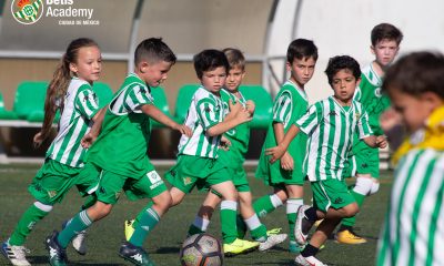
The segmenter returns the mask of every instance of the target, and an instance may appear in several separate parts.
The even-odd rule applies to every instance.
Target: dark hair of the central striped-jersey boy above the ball
[[[215,49],[203,50],[193,58],[195,74],[202,79],[204,71],[212,71],[219,66],[224,66],[225,72],[229,72],[230,64],[225,54]]]

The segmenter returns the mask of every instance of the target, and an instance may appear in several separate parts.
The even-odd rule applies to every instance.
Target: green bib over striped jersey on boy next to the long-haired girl
[[[153,101],[150,88],[137,74],[128,75],[109,104],[88,161],[115,174],[144,176],[152,168],[147,154],[151,123],[140,108]]]

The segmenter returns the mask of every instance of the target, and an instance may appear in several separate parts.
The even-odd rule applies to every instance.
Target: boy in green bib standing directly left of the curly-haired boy
[[[303,205],[305,173],[302,171],[302,165],[306,136],[301,134],[295,137],[279,164],[271,164],[264,151],[281,143],[284,133],[306,112],[309,102],[304,86],[313,76],[316,60],[317,48],[313,41],[296,39],[290,43],[286,52],[286,69],[291,76],[275,98],[273,121],[266,132],[255,174],[258,178],[262,178],[266,185],[274,188],[273,195],[265,195],[254,203],[254,209],[259,216],[266,215],[286,201],[290,252],[293,253],[301,250],[294,238],[294,222],[297,208]]]

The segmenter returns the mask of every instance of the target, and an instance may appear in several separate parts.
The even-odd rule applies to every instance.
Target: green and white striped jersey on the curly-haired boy
[[[333,96],[311,105],[295,125],[309,135],[304,170],[312,182],[342,180],[353,134],[357,132],[360,139],[372,134],[361,103],[352,101],[344,108]]]

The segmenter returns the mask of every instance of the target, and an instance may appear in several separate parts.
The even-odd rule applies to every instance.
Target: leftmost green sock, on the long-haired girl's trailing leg
[[[38,222],[40,222],[42,218],[44,218],[52,209],[52,207],[49,205],[43,205],[43,206],[48,206],[48,208],[44,208],[44,207],[39,208],[36,206],[36,204],[32,204],[23,213],[19,223],[17,224],[14,232],[12,233],[12,235],[9,239],[9,244],[11,244],[13,246],[22,246],[23,245],[28,235],[31,234],[31,231],[34,227],[34,225]]]

